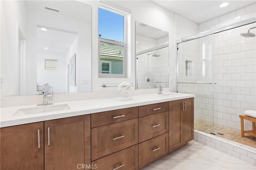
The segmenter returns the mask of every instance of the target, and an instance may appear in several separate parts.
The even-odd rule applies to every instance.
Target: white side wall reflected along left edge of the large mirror
[[[18,86],[18,28],[27,38],[23,1],[1,1],[1,96],[16,95]]]

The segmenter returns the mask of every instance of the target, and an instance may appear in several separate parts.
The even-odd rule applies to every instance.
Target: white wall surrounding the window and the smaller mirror
[[[116,90],[117,88],[102,88],[102,83],[117,83],[128,81],[135,83],[135,21],[140,21],[152,27],[166,30],[169,32],[169,70],[174,70],[173,59],[173,32],[174,20],[173,12],[170,12],[150,1],[132,1],[121,0],[111,1],[115,4],[128,8],[132,11],[130,16],[130,39],[128,39],[128,78],[98,78],[98,1],[90,1],[92,5],[92,92],[102,90]],[[87,2],[86,2],[87,3]],[[173,80],[170,74],[169,80]],[[173,84],[170,84],[170,90],[173,91]],[[169,91],[169,90],[168,90]]]

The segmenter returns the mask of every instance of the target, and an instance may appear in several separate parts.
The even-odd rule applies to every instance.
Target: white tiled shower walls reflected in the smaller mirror
[[[168,43],[168,35],[159,39],[153,39],[143,35],[136,34],[136,52],[158,47]],[[159,57],[148,55],[156,53]],[[168,82],[168,47],[150,51],[137,56],[138,60],[138,88],[157,88],[150,82]],[[147,79],[150,78],[150,82]],[[168,87],[168,84],[167,84]]]

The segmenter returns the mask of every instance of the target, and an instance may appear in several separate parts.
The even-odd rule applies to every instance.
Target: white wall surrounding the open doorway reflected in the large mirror
[[[49,15],[48,13],[29,10],[28,12],[28,53],[27,53],[27,94],[33,95],[36,91],[36,25],[54,27],[78,33],[76,51],[77,90],[78,92],[91,91],[91,23],[73,20],[62,16]],[[78,72],[79,71],[79,72]],[[82,84],[87,80],[88,84]]]

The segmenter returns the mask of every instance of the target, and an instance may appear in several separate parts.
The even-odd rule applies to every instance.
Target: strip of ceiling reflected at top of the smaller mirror
[[[136,34],[159,39],[168,35],[168,32],[136,21]]]

